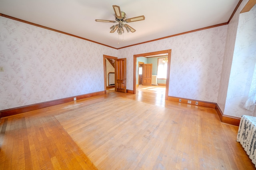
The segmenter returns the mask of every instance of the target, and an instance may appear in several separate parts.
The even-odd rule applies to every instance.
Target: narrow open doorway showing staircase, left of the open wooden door
[[[103,55],[104,92],[114,92],[116,88],[116,57]]]

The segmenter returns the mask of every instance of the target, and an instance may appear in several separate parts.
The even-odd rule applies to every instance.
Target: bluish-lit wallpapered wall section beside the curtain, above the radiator
[[[224,114],[256,116],[244,109],[256,64],[256,5],[239,15]]]

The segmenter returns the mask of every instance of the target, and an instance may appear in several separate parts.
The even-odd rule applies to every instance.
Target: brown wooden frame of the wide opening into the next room
[[[136,94],[136,68],[137,68],[137,57],[146,57],[152,55],[160,55],[160,54],[168,54],[168,61],[167,61],[167,77],[166,77],[166,85],[165,85],[165,100],[168,99],[169,93],[169,79],[170,79],[170,63],[171,63],[171,49],[163,50],[163,51],[156,51],[151,53],[143,53],[143,54],[136,54],[133,55],[133,94]]]

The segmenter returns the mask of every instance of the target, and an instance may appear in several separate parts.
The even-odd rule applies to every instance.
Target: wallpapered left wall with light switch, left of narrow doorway
[[[104,90],[117,50],[0,17],[0,110]]]

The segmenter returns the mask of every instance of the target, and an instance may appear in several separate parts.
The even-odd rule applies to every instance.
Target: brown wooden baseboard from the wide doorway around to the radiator
[[[177,98],[177,97],[168,96],[168,100],[173,101],[173,102],[179,102],[180,99],[181,99],[180,103],[188,104],[188,101],[191,101],[192,105],[196,105],[196,102],[197,102],[196,106],[204,106],[204,107],[213,108],[218,113],[218,116],[219,116],[220,121],[222,123],[227,123],[227,124],[230,124],[230,125],[239,126],[240,118],[239,117],[234,117],[234,116],[229,116],[229,115],[224,115],[222,113],[220,107],[216,103],[203,102],[203,101],[197,101],[197,100],[190,100],[190,99],[185,99],[185,98]]]

